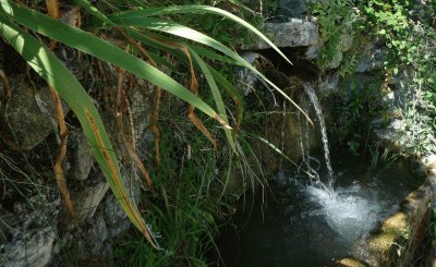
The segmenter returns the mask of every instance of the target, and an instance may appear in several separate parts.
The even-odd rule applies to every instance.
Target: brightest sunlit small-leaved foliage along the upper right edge
[[[366,31],[386,44],[385,70],[409,76],[402,80],[407,99],[401,108],[407,153],[435,153],[436,2],[371,0],[360,7],[368,22]]]

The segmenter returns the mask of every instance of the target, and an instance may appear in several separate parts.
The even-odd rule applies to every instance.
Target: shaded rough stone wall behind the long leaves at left
[[[131,222],[110,193],[66,105],[64,116],[70,133],[63,170],[76,218],[63,210],[52,170],[60,141],[55,102],[47,85],[35,73],[26,74],[24,65],[16,64],[17,69],[7,71],[7,58],[20,61],[20,57],[13,56],[5,44],[2,46],[0,69],[5,70],[12,92],[8,102],[0,101],[0,266],[96,266],[95,263],[104,266],[111,262],[111,240],[130,229]],[[97,95],[105,89],[109,94],[116,92],[118,72],[101,63],[105,80],[100,77],[96,83],[94,75],[98,73],[92,73],[89,66],[96,62],[84,56],[78,60],[74,53],[68,54],[74,60],[65,60],[66,65],[82,78],[88,93],[99,99],[100,116],[121,162],[124,182],[132,189],[131,195],[137,196],[142,179],[122,145],[113,119],[113,98]],[[86,75],[93,77],[85,78]],[[153,86],[144,81],[137,84],[126,95],[130,112],[125,116],[129,121],[124,131],[143,151],[153,138],[147,128],[155,96]],[[0,85],[0,95],[3,90]],[[140,157],[145,160],[141,153]]]

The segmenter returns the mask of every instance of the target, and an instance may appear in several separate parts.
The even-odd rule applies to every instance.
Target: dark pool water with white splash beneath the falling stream
[[[245,197],[213,265],[331,266],[423,182],[407,161],[370,170],[360,158],[332,158],[334,196],[304,177],[278,174],[265,196]]]

